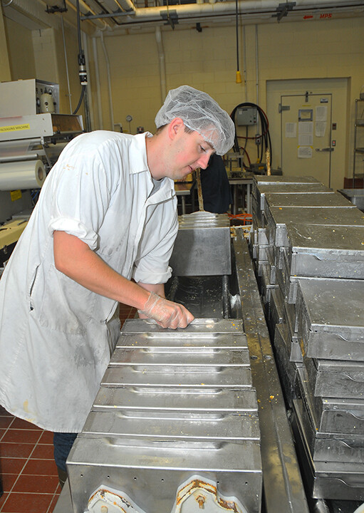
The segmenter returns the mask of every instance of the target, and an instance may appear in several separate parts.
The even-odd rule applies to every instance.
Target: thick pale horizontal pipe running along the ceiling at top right
[[[130,1],[130,0],[123,0]],[[264,14],[264,15],[277,15],[280,5],[279,0],[238,0],[240,16],[251,14]],[[291,18],[292,14],[300,13],[302,11],[318,11],[320,9],[337,9],[344,8],[353,11],[355,7],[364,7],[364,1],[361,0],[296,0],[296,5],[292,11],[289,11],[287,18]],[[218,1],[214,4],[182,4],[157,7],[135,8],[133,14],[128,13],[113,13],[110,16],[124,16],[125,21],[123,25],[140,24],[144,21],[161,21],[171,19],[180,23],[182,19],[189,19],[194,17],[209,17],[219,15],[233,15],[236,11],[235,1]],[[108,15],[103,15],[103,17]],[[92,19],[93,16],[87,17]],[[85,18],[86,19],[86,18]]]

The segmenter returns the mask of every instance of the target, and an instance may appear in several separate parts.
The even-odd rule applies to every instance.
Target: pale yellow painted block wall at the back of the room
[[[40,39],[43,31],[27,31],[15,21],[1,18],[0,38],[6,41],[6,59],[0,60],[0,80],[36,78],[60,83],[61,112],[69,112],[66,87],[66,66],[61,29],[45,29],[51,41],[43,50]],[[194,24],[162,27],[162,45],[165,58],[166,89],[183,83],[206,90],[229,113],[239,103],[257,102],[265,111],[266,87],[269,81],[303,78],[348,78],[346,111],[348,146],[345,157],[345,175],[352,175],[353,118],[355,98],[364,85],[364,18],[323,18],[280,23],[247,24],[239,26],[239,68],[242,83],[235,83],[236,34],[234,24],[202,23],[198,32]],[[53,34],[49,33],[49,30]],[[33,32],[33,33],[32,33]],[[5,36],[4,36],[5,34]],[[19,36],[26,44],[19,45]],[[95,41],[93,41],[93,36]],[[92,128],[112,129],[108,93],[108,68],[113,98],[113,121],[135,133],[138,126],[153,132],[154,117],[162,103],[160,56],[155,28],[143,32],[112,33],[104,31],[103,41],[98,33],[87,35],[89,97]],[[1,39],[0,39],[1,42]],[[76,24],[66,26],[66,46],[73,106],[80,93],[77,64]],[[94,48],[97,48],[95,53]],[[244,56],[246,59],[244,61]],[[48,59],[48,61],[47,61]],[[99,68],[99,93],[102,124],[98,115],[98,95],[95,60]],[[256,68],[258,64],[258,68]],[[245,71],[245,73],[244,73]],[[257,88],[258,84],[258,88]],[[80,110],[82,113],[82,110]],[[132,115],[132,122],[125,120]],[[115,127],[118,129],[118,127]],[[251,150],[254,152],[254,150]],[[357,172],[363,172],[358,169]]]

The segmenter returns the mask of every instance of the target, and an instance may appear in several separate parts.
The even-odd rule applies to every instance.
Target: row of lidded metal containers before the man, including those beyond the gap
[[[226,219],[200,212],[180,224],[180,273],[231,269]],[[222,251],[219,264],[205,261]],[[196,318],[177,330],[126,321],[67,467],[74,513],[261,512],[258,403],[242,321]]]

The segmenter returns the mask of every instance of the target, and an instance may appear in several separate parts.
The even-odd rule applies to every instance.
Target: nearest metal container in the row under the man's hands
[[[182,482],[200,475],[219,492],[239,499],[249,513],[261,511],[259,445],[252,442],[185,442],[83,437],[73,444],[68,477],[73,512],[83,513],[100,485],[123,490],[148,513],[170,512]]]

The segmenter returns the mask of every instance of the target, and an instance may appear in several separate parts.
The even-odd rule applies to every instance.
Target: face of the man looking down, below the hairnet
[[[212,145],[202,135],[198,132],[187,133],[182,125],[171,146],[166,176],[172,180],[183,180],[197,167],[205,169],[214,152]]]

